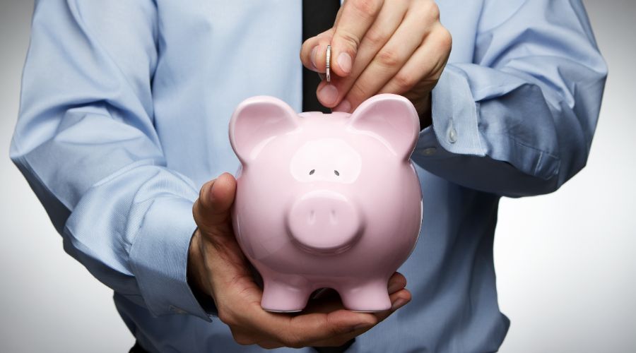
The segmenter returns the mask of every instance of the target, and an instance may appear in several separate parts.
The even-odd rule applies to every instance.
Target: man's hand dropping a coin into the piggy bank
[[[413,102],[423,128],[430,125],[430,91],[452,47],[434,1],[346,0],[334,27],[302,44],[302,64],[324,72],[330,43],[331,83],[317,88],[325,107],[353,112],[372,95],[395,93]]]

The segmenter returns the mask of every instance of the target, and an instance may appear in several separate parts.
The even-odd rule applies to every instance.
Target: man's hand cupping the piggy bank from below
[[[403,275],[389,280],[393,308],[381,313],[355,313],[343,309],[334,292],[312,299],[296,314],[269,313],[261,309],[262,290],[254,282],[249,264],[234,233],[230,208],[236,181],[230,174],[208,181],[194,203],[196,230],[189,249],[191,285],[213,298],[218,318],[230,326],[236,342],[276,347],[329,347],[343,345],[370,330],[411,300]]]

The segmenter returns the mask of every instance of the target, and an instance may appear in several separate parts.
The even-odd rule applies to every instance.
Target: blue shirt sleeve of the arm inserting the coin
[[[474,50],[444,69],[413,161],[502,196],[555,191],[587,161],[607,75],[581,1],[485,1]]]

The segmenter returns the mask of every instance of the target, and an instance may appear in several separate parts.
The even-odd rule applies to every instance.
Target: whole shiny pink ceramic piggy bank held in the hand
[[[232,222],[263,277],[263,309],[301,311],[323,287],[349,310],[391,307],[389,277],[422,222],[410,160],[419,131],[416,109],[399,95],[372,97],[353,114],[296,114],[263,96],[237,107]]]

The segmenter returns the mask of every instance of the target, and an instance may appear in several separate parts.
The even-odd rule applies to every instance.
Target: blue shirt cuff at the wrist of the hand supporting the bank
[[[192,201],[185,198],[156,198],[143,218],[130,261],[153,316],[191,314],[212,321],[187,282],[188,249],[195,229]]]

